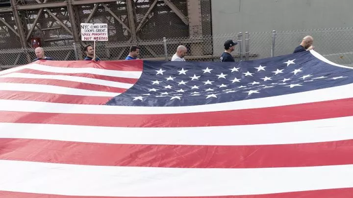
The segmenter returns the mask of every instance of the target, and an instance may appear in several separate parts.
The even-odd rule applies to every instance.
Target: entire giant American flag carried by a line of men
[[[0,72],[0,198],[353,198],[353,69],[37,61]]]

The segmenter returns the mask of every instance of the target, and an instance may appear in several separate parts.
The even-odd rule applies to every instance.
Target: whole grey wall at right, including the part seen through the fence
[[[211,0],[212,33],[215,36],[248,31],[251,36],[250,51],[258,54],[256,58],[265,58],[271,55],[272,30],[353,27],[352,8],[353,0]],[[304,31],[277,34],[275,55],[291,53],[305,35],[314,36],[314,45],[319,53],[337,53],[329,56],[332,61],[342,57],[340,53],[353,51],[353,29],[333,32]],[[233,39],[236,40],[236,37]],[[220,39],[214,40],[213,49],[215,55],[221,54],[224,50],[223,42]],[[341,59],[339,61],[342,64],[349,64],[353,57],[347,61]]]

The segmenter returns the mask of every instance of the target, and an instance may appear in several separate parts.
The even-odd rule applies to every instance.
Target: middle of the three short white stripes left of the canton
[[[53,80],[65,80],[73,81],[78,83],[89,83],[95,85],[102,85],[115,88],[131,88],[133,84],[119,83],[101,79],[86,78],[79,76],[66,76],[66,75],[44,75],[44,74],[29,74],[29,73],[9,73],[0,76],[0,78],[31,78],[31,79],[53,79]]]

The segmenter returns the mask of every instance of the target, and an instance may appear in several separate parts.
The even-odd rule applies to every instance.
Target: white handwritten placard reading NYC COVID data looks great
[[[82,41],[108,41],[108,25],[106,23],[81,23]]]

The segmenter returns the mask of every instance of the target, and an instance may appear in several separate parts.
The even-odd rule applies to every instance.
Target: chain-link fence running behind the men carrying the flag
[[[341,65],[353,65],[353,28],[329,28],[286,32],[234,33],[225,35],[164,38],[136,42],[97,42],[96,54],[101,60],[123,60],[129,53],[129,47],[137,44],[141,47],[140,58],[145,60],[171,60],[178,45],[185,45],[187,61],[219,61],[224,51],[224,42],[237,41],[232,52],[236,61],[252,60],[290,54],[303,37],[314,37],[315,50],[328,60]],[[60,47],[44,47],[46,56],[54,60],[82,60],[83,44],[71,44]],[[34,49],[19,48],[0,50],[2,69],[25,65],[35,59]]]

